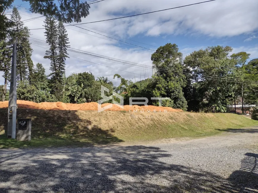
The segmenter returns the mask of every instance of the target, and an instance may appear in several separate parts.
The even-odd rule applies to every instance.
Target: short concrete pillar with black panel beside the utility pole
[[[17,126],[17,140],[31,141],[31,119],[18,119]]]

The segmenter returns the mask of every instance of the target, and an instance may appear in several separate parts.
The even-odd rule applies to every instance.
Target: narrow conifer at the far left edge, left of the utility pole
[[[11,48],[8,46],[6,41],[0,41],[0,71],[4,72],[4,86],[2,92],[2,101],[5,100],[6,92],[7,92],[7,82],[10,78],[10,70],[11,70]]]

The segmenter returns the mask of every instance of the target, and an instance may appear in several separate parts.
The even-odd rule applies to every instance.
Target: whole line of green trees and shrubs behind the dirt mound
[[[31,5],[34,3],[31,2]],[[121,79],[120,85],[115,87],[112,80],[95,77],[90,72],[73,73],[66,77],[69,39],[63,22],[56,22],[51,16],[45,19],[49,49],[44,58],[50,62],[49,75],[45,75],[42,64],[33,64],[30,33],[24,27],[17,8],[13,8],[8,22],[0,38],[0,71],[4,72],[4,85],[0,86],[2,101],[8,99],[11,46],[16,39],[17,99],[20,100],[97,102],[101,99],[102,85],[109,88],[110,94],[115,91],[124,96],[124,104],[129,104],[129,97],[147,97],[149,104],[158,105],[158,101],[150,98],[168,97],[171,100],[164,101],[163,106],[196,112],[226,112],[227,104],[238,96],[242,96],[243,106],[258,104],[258,59],[249,61],[250,54],[246,52],[230,55],[230,46],[200,49],[183,59],[178,46],[168,43],[160,46],[151,56],[155,75],[133,82],[115,74],[114,78]]]

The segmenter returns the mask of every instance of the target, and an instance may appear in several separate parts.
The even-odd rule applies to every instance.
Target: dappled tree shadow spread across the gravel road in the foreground
[[[253,192],[257,154],[228,179],[164,163],[157,147],[1,150],[0,192]],[[5,157],[6,156],[6,157]],[[253,189],[253,190],[251,190]]]

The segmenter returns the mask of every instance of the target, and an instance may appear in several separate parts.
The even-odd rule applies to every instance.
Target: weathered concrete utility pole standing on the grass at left
[[[12,70],[11,70],[11,82],[9,92],[9,105],[8,105],[8,138],[15,139],[16,134],[16,107],[17,107],[17,92],[16,92],[16,40],[12,46]]]

